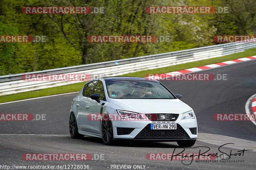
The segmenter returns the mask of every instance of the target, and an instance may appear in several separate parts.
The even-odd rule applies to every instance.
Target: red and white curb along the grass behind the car
[[[256,55],[251,56],[251,57],[244,57],[244,58],[240,58],[240,59],[235,59],[235,60],[230,60],[230,61],[224,61],[224,62],[220,62],[220,63],[215,63],[215,64],[209,64],[209,65],[205,65],[205,66],[200,66],[200,67],[194,67],[194,68],[188,68],[185,70],[179,70],[179,71],[173,71],[170,73],[165,73],[165,74],[156,74],[156,75],[152,75],[152,76],[147,76],[144,78],[148,78],[148,79],[153,79],[153,80],[161,80],[163,78],[168,77],[168,74],[185,74],[185,73],[192,73],[192,72],[196,72],[196,71],[201,71],[201,70],[206,70],[206,69],[210,69],[210,68],[214,68],[214,67],[220,67],[220,66],[225,66],[228,64],[234,64],[234,63],[238,63],[238,62],[242,62],[242,61],[248,61],[248,60],[254,60],[256,59]]]

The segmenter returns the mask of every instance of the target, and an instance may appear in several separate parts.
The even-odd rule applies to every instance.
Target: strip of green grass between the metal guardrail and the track
[[[145,71],[140,71],[135,73],[124,74],[120,76],[144,77],[148,73],[163,74],[163,73],[169,73],[172,71],[188,69],[192,67],[204,66],[207,64],[214,64],[218,62],[234,60],[234,59],[243,58],[243,57],[250,57],[255,54],[256,54],[256,48],[253,48],[241,53],[230,54],[223,57],[217,57],[217,58],[189,62],[189,63],[179,64],[179,65],[174,65],[169,67],[145,70]],[[55,95],[55,94],[61,94],[61,93],[75,92],[75,91],[79,91],[83,85],[84,85],[84,82],[80,82],[80,83],[75,83],[75,84],[70,84],[65,86],[47,88],[47,89],[36,90],[36,91],[29,91],[29,92],[18,93],[18,94],[7,95],[7,96],[0,96],[0,103],[27,99],[27,98],[34,98],[34,97],[49,96],[49,95]]]

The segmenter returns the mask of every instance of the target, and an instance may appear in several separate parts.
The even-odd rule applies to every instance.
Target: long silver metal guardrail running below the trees
[[[23,81],[22,74],[105,74],[107,76],[122,75],[142,70],[168,67],[171,65],[221,57],[255,48],[256,43],[226,43],[214,46],[193,48],[188,50],[161,53],[123,60],[49,69],[21,74],[0,76],[0,96],[26,91],[62,86],[79,81]]]

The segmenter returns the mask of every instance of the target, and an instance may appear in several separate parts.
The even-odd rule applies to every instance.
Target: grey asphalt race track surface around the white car
[[[225,81],[162,81],[182,101],[191,106],[197,117],[198,139],[185,153],[198,153],[210,147],[208,153],[221,151],[244,156],[228,160],[244,162],[196,162],[183,165],[180,160],[147,160],[147,153],[181,151],[176,142],[119,141],[114,146],[102,139],[68,135],[68,112],[76,94],[52,96],[0,105],[0,113],[45,114],[46,120],[0,121],[0,165],[89,165],[90,169],[111,169],[111,165],[146,165],[145,169],[256,169],[256,126],[251,121],[215,121],[216,113],[243,113],[250,96],[256,93],[256,60],[200,71],[198,73],[228,74]],[[80,89],[78,89],[80,90]],[[200,148],[194,148],[199,147]],[[175,148],[177,147],[177,148]],[[177,152],[176,152],[177,151]],[[90,153],[104,154],[104,160],[88,161],[25,161],[24,153]],[[218,159],[216,159],[218,160]],[[183,162],[188,164],[189,162]],[[0,168],[1,169],[1,168]],[[74,168],[73,168],[74,169]],[[113,169],[113,168],[112,168]],[[133,168],[132,168],[133,169]]]

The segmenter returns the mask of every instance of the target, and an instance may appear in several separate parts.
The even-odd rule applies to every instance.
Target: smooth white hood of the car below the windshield
[[[192,110],[180,99],[111,99],[111,103],[137,113],[185,113]]]

